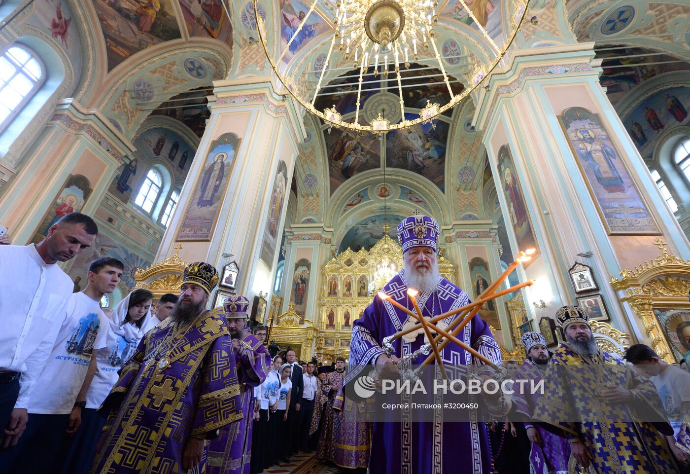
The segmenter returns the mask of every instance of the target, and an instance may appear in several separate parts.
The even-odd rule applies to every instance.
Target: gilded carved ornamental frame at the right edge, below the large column
[[[661,255],[631,270],[622,269],[620,279],[611,277],[611,286],[625,292],[620,301],[628,303],[638,317],[651,347],[664,361],[673,363],[679,354],[673,352],[672,335],[662,319],[669,310],[688,308],[690,260],[669,254],[667,243],[659,238],[654,243]]]

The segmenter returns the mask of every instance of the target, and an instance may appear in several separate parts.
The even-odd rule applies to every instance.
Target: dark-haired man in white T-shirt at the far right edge
[[[631,345],[625,351],[625,359],[633,363],[636,370],[648,375],[659,392],[666,415],[673,426],[673,436],[667,436],[669,446],[673,455],[684,466],[682,473],[690,472],[690,456],[676,447],[676,436],[690,406],[690,373],[660,360],[649,345]]]

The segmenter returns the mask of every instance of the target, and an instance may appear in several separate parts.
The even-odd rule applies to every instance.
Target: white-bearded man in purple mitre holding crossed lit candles
[[[439,274],[436,261],[439,232],[436,221],[428,216],[415,215],[400,222],[397,236],[402,245],[404,268],[382,290],[411,311],[415,311],[415,307],[407,290],[417,290],[417,302],[424,317],[437,316],[469,303],[466,292]],[[448,325],[452,320],[453,316],[450,316],[442,323]],[[421,348],[424,344],[422,334],[416,338],[396,339],[390,356],[383,350],[384,337],[395,334],[406,323],[408,314],[391,304],[391,301],[374,299],[362,317],[353,323],[346,385],[370,372],[371,366],[382,372],[391,372],[391,368],[394,371],[400,357]],[[479,316],[475,316],[457,334],[457,338],[494,363],[501,363],[500,350],[489,324]],[[481,363],[455,344],[447,345],[440,355],[444,364],[449,365],[471,366]],[[411,363],[420,364],[424,359],[426,354],[418,354]],[[351,393],[346,391],[346,395],[350,397]],[[500,418],[511,408],[509,401],[496,405],[502,410],[493,415]],[[373,423],[369,457],[369,470],[373,473],[489,473],[490,469],[489,438],[484,423]]]

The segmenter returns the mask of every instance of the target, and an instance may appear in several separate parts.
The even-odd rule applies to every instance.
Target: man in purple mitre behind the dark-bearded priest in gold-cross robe
[[[254,419],[254,388],[260,386],[270,370],[270,354],[248,328],[249,300],[230,296],[223,303],[228,329],[233,340],[242,420],[221,428],[208,446],[208,474],[249,474]],[[262,440],[264,442],[264,440]]]

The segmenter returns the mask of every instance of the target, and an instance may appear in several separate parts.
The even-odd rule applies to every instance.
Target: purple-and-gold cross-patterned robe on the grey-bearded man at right
[[[637,375],[618,354],[600,350],[595,359],[598,363],[591,364],[567,343],[560,343],[544,374],[544,396],[539,398],[534,410],[535,421],[548,424],[544,428],[549,430],[555,427],[555,433],[569,441],[580,439],[593,456],[598,474],[676,473],[673,454],[658,431],[673,433],[671,426],[664,422],[625,421],[639,419],[636,413],[643,414],[645,419],[652,419],[654,414],[658,414],[654,419],[665,419],[659,394],[651,381]],[[600,368],[590,371],[587,366]],[[602,381],[591,375],[604,368],[607,370],[602,372],[605,374],[602,377],[606,378]],[[602,384],[631,390],[634,402],[631,406],[635,409],[607,401],[599,394]],[[582,422],[567,421],[573,414],[581,417]]]

